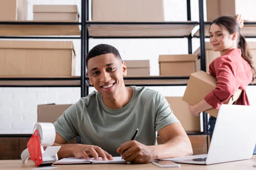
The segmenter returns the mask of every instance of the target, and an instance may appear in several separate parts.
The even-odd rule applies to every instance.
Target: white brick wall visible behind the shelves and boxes
[[[91,0],[89,0],[90,2]],[[236,0],[237,4],[243,3],[236,10],[242,13],[244,18],[256,20],[252,9],[253,5],[246,5],[249,4],[248,2],[256,5],[255,0]],[[76,4],[81,14],[81,0],[28,0],[28,20],[33,19],[33,4]],[[204,6],[205,4],[204,0]],[[186,0],[164,0],[164,14],[166,21],[186,21]],[[199,20],[198,0],[191,0],[191,17],[193,21]],[[248,39],[248,41],[256,40]],[[80,40],[73,40],[73,43],[77,54],[76,75],[80,76],[81,43]],[[151,75],[159,75],[159,54],[188,53],[186,39],[90,39],[89,48],[99,43],[115,46],[123,59],[150,59]],[[198,47],[199,39],[193,39],[193,51]],[[182,96],[186,86],[150,88],[160,91],[165,96]],[[93,90],[94,88],[89,88],[89,93]],[[247,94],[250,102],[253,105],[256,104],[256,86],[249,86]],[[32,128],[37,122],[38,105],[48,103],[71,104],[79,99],[80,88],[0,88],[0,134],[32,133]]]

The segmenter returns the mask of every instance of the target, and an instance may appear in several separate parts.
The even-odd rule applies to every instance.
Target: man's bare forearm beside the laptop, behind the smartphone
[[[183,136],[174,137],[165,144],[159,144],[149,147],[152,147],[152,149],[154,150],[154,159],[190,156],[193,154],[189,139],[184,139]]]

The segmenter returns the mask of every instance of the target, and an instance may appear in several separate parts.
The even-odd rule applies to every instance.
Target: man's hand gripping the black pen
[[[132,164],[149,163],[154,160],[154,146],[146,146],[135,140],[125,142],[117,150],[125,161]]]

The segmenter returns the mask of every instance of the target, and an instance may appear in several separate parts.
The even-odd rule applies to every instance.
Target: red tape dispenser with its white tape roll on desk
[[[52,146],[55,137],[55,127],[52,123],[37,123],[27,148],[21,153],[22,163],[25,164],[29,157],[37,167],[50,166],[58,161],[57,152],[61,146]],[[46,150],[44,147],[47,147]]]

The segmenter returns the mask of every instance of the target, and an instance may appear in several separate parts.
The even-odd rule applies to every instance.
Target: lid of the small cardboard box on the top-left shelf
[[[33,12],[78,13],[77,5],[33,5]]]

